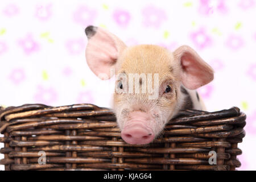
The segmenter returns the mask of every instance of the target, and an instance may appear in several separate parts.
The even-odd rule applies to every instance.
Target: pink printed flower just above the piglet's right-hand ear
[[[212,44],[212,39],[205,33],[204,28],[200,28],[200,30],[191,33],[192,42],[199,49],[203,49]]]

